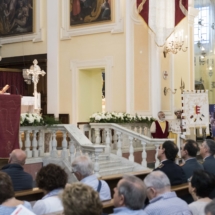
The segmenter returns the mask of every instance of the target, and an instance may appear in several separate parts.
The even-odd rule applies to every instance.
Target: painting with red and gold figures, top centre
[[[70,0],[70,26],[111,20],[111,0]]]

